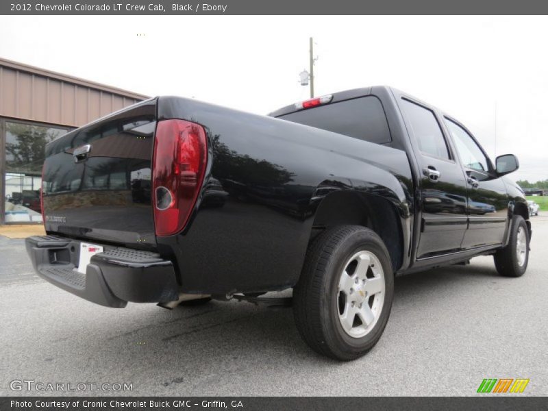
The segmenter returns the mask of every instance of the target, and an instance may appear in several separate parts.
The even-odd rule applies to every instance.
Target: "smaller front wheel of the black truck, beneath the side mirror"
[[[529,230],[522,216],[513,216],[508,245],[495,253],[495,267],[504,277],[521,277],[529,262]]]

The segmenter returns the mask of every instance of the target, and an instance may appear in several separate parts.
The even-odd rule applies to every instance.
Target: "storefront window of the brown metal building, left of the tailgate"
[[[48,142],[68,130],[5,123],[5,223],[41,223],[40,186]]]

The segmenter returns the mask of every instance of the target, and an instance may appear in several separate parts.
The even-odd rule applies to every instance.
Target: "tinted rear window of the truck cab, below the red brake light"
[[[360,140],[391,142],[390,129],[382,104],[374,96],[338,101],[316,108],[279,116],[279,119],[310,125]]]

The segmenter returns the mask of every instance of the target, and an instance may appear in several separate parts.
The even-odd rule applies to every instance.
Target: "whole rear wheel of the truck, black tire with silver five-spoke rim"
[[[354,360],[381,337],[393,298],[394,273],[381,238],[356,225],[329,228],[306,253],[293,290],[295,323],[317,353]]]

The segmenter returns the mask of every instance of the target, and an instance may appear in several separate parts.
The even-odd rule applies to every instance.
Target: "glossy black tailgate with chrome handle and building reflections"
[[[155,247],[151,99],[74,130],[46,147],[42,176],[48,234]]]

